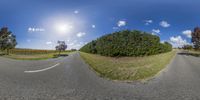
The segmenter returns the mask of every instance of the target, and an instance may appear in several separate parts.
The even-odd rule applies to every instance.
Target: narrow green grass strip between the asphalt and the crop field
[[[62,52],[61,55],[67,55],[71,53],[69,52]],[[3,55],[3,57],[16,59],[16,60],[45,60],[49,58],[57,58],[58,53],[47,53],[47,54],[9,54],[9,55]]]

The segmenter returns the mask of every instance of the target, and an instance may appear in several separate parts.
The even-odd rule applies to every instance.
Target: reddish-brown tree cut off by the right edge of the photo
[[[196,27],[192,32],[192,43],[195,49],[200,49],[200,27]]]

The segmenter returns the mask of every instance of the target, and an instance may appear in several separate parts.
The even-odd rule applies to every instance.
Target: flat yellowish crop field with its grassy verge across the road
[[[71,53],[71,50],[61,52],[61,55]],[[37,49],[12,49],[9,55],[3,57],[17,59],[17,60],[42,60],[49,58],[57,58],[58,51],[55,50],[37,50]]]

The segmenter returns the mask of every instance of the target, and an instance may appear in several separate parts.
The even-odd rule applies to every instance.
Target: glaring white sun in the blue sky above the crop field
[[[67,23],[57,23],[55,25],[56,32],[60,34],[65,34],[71,32],[73,26]]]

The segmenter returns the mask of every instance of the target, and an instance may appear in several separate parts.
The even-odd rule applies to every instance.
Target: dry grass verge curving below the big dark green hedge
[[[80,52],[98,75],[111,80],[143,80],[156,75],[169,64],[176,50],[146,57],[105,57]]]

